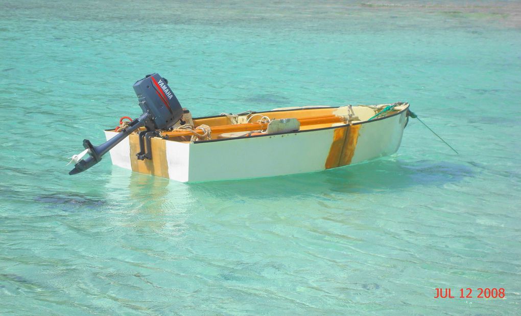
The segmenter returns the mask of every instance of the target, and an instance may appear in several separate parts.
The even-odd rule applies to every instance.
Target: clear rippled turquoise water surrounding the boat
[[[518,313],[519,2],[2,7],[0,314]],[[460,154],[411,120],[395,155],[327,172],[69,176],[154,71],[196,116],[408,101]]]

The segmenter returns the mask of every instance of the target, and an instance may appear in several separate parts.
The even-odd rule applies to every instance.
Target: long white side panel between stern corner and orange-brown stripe
[[[333,129],[190,144],[189,181],[270,177],[325,168]]]

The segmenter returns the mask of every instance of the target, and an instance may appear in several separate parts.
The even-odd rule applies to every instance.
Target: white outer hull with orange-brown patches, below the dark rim
[[[407,109],[350,125],[204,142],[152,139],[152,160],[140,161],[137,135],[110,150],[114,165],[181,182],[271,177],[322,171],[395,153]],[[117,135],[105,131],[107,140]]]

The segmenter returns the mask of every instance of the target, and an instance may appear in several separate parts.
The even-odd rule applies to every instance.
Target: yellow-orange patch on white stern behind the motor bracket
[[[132,171],[158,177],[168,178],[168,163],[166,160],[166,142],[161,138],[152,138],[152,160],[138,160],[136,154],[140,151],[139,137],[130,134],[130,165]]]

